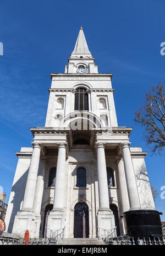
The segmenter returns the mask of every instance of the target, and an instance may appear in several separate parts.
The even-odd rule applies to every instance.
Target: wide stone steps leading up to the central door
[[[105,245],[103,240],[98,238],[58,238],[58,245]]]

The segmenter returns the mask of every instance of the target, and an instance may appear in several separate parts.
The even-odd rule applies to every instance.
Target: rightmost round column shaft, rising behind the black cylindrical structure
[[[123,151],[125,177],[127,181],[130,210],[140,209],[138,189],[136,186],[133,162],[130,155],[129,143],[121,143]]]

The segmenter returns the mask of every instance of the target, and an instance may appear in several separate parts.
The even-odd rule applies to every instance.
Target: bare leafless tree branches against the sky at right
[[[153,153],[165,146],[165,93],[163,85],[152,86],[146,102],[135,112],[135,122],[145,127],[147,144]]]

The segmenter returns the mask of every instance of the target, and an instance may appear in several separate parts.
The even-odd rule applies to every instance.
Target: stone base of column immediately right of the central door
[[[98,236],[99,238],[105,238],[105,230],[112,231],[115,228],[115,221],[113,212],[109,208],[99,208],[97,213],[98,223]],[[108,236],[108,233],[107,233]]]

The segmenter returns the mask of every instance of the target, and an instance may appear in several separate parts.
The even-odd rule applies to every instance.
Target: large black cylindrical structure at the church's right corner
[[[126,232],[142,239],[150,235],[162,235],[160,213],[155,210],[134,210],[123,213]]]

